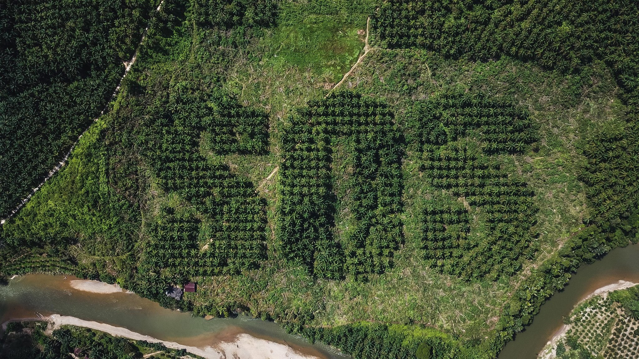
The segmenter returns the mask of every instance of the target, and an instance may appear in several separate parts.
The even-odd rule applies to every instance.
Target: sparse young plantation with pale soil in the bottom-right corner
[[[566,334],[544,348],[542,355],[554,349],[560,359],[636,358],[638,308],[638,286],[581,302],[566,318]]]

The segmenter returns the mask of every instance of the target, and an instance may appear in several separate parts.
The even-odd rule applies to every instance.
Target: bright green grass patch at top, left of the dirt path
[[[269,72],[275,82],[285,73],[311,72],[328,88],[357,60],[364,47],[358,30],[371,11],[374,3],[366,0],[279,2],[278,26],[260,40],[265,51],[264,68],[272,68]]]

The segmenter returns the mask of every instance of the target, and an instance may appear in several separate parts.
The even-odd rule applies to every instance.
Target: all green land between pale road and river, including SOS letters
[[[0,271],[248,310],[357,358],[494,357],[639,222],[639,14],[546,3],[165,1],[1,227]]]

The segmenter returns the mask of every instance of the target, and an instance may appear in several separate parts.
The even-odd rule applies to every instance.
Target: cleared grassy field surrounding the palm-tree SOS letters
[[[139,152],[136,141],[144,121],[177,96],[224,91],[242,105],[269,114],[267,153],[217,155],[206,135],[200,149],[209,162],[226,164],[233,174],[248,179],[265,199],[266,259],[258,269],[239,274],[193,278],[199,289],[185,293],[187,309],[196,315],[228,316],[241,308],[255,316],[321,328],[362,321],[427,327],[466,346],[493,336],[519,284],[583,229],[590,211],[578,180],[586,164],[583,139],[600,126],[623,121],[620,90],[610,70],[597,62],[564,73],[508,56],[472,62],[428,50],[374,47],[342,86],[383,98],[396,112],[406,145],[404,243],[386,273],[367,280],[317,279],[284,261],[275,243],[281,134],[293,109],[327,95],[355,63],[373,10],[374,3],[363,0],[283,1],[277,25],[224,31],[167,15],[169,20],[151,29],[111,111],[82,137],[65,169],[2,227],[4,240],[16,246],[5,247],[3,259],[17,267],[25,252],[48,256],[66,261],[86,277],[134,287],[137,264],[150,241],[147,231],[158,221],[160,205],[195,213],[187,201],[160,188]],[[525,179],[534,190],[539,209],[535,257],[523,261],[523,269],[512,277],[466,281],[424,261],[419,213],[425,199],[440,192],[422,178],[410,119],[415,103],[443,89],[512,96],[530,113],[539,134],[539,141],[523,153],[497,155],[502,169]],[[338,199],[334,231],[341,240],[351,218],[349,144],[336,140],[333,145]],[[53,265],[47,269],[40,271],[56,271]]]

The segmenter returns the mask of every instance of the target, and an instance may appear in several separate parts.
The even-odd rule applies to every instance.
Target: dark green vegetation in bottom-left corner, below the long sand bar
[[[128,340],[107,333],[66,325],[51,335],[45,334],[47,323],[8,323],[0,340],[2,359],[176,359],[200,358],[185,349],[169,349],[161,343]]]

